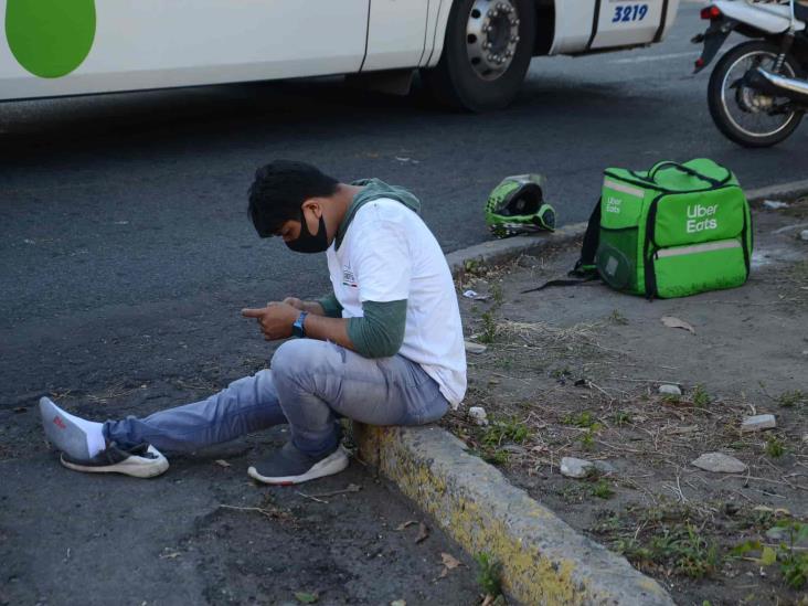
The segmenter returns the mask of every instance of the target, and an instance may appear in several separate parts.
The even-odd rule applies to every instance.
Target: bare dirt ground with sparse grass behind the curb
[[[808,199],[756,211],[755,227],[752,277],[732,290],[522,294],[563,277],[580,244],[469,264],[458,284],[488,297],[461,297],[467,334],[487,350],[469,353],[469,393],[446,426],[680,604],[808,604]],[[741,432],[766,413],[776,428]],[[713,451],[746,470],[691,465]],[[562,457],[608,466],[572,479]]]

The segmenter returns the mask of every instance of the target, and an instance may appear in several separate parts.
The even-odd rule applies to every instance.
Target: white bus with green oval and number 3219
[[[421,70],[475,111],[531,56],[659,42],[679,0],[0,0],[0,100],[345,74],[406,91]]]

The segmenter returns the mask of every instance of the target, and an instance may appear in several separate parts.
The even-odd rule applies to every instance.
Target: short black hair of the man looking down
[[[276,235],[289,220],[300,220],[300,208],[310,198],[328,198],[339,181],[306,162],[275,160],[255,171],[247,212],[261,237]]]

